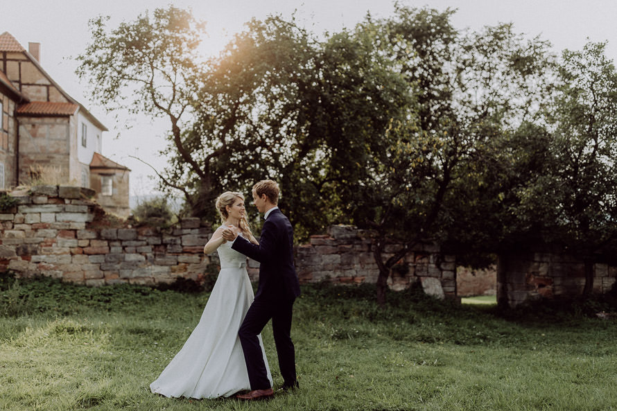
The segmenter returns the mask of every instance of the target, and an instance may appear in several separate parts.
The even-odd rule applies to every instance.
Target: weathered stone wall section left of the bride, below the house
[[[17,196],[16,207],[0,212],[0,270],[102,286],[202,281],[208,264],[217,262],[216,255],[203,255],[210,233],[198,219],[184,220],[192,228],[180,231],[108,227],[91,195],[79,187],[38,186]],[[195,247],[176,245],[182,243]]]

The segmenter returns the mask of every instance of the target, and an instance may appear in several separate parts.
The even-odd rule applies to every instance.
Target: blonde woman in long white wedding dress
[[[246,257],[232,250],[222,237],[223,229],[239,227],[241,236],[258,243],[246,220],[241,193],[221,194],[216,199],[216,209],[223,226],[214,231],[204,252],[218,250],[220,273],[199,324],[159,378],[150,384],[150,390],[157,394],[213,399],[250,390],[238,329],[253,301],[253,289],[246,272]],[[272,385],[261,336],[259,344]]]

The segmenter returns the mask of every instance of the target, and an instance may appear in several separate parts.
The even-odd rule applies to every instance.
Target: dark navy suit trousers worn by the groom
[[[246,313],[238,336],[244,351],[251,390],[270,388],[266,364],[263,362],[261,347],[259,347],[259,339],[257,338],[257,335],[261,333],[270,319],[272,319],[272,334],[277,346],[281,376],[283,376],[286,385],[295,384],[295,349],[290,336],[294,300],[272,302],[264,301],[258,297],[254,299]]]

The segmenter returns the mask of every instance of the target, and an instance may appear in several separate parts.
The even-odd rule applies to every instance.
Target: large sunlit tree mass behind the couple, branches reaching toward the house
[[[374,145],[390,106],[406,98],[380,66],[374,32],[320,42],[273,16],[250,21],[223,53],[198,63],[202,26],[189,12],[157,9],[114,30],[105,21],[91,21],[78,73],[109,110],[169,119],[169,163],[157,173],[195,216],[213,219],[220,191],[270,177],[300,238],[345,218],[337,191],[353,190],[366,136]]]

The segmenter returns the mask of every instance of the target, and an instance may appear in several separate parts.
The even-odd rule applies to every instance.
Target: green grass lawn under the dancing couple
[[[304,286],[293,340],[300,390],[263,403],[166,399],[148,385],[207,293],[0,281],[0,410],[617,410],[617,321],[498,313],[416,290]],[[282,383],[270,326],[263,332]]]

